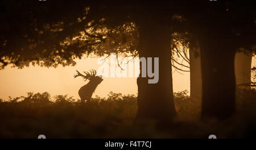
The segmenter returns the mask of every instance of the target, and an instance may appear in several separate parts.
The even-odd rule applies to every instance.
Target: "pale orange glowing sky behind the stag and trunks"
[[[0,70],[0,98],[8,99],[27,95],[32,91],[34,93],[48,91],[51,95],[65,95],[79,98],[78,90],[87,83],[82,78],[73,78],[76,70],[98,69],[97,58],[87,58],[76,60],[76,66],[66,66],[63,68],[42,68],[39,66],[30,66],[24,69],[11,68],[7,66]],[[252,65],[256,65],[256,59],[253,59]],[[104,77],[104,81],[97,87],[93,94],[100,97],[106,97],[109,91],[123,94],[137,94],[137,78],[135,77]],[[189,90],[189,72],[183,74],[173,73],[174,91]]]

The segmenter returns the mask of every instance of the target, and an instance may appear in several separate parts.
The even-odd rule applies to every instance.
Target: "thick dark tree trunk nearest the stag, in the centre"
[[[171,71],[171,34],[168,26],[148,23],[140,27],[139,57],[159,57],[159,81],[148,84],[148,76],[137,79],[138,84],[138,113],[137,122],[144,120],[157,123],[170,123],[176,115],[172,91]],[[154,68],[154,61],[152,64]],[[150,66],[151,67],[151,66]],[[152,69],[154,72],[154,69]]]

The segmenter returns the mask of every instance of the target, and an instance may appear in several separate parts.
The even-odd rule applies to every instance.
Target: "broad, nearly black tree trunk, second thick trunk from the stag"
[[[236,110],[234,47],[225,39],[201,39],[202,118],[226,119]]]

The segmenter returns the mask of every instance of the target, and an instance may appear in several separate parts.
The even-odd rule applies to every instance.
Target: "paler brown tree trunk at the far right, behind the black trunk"
[[[251,57],[252,52],[237,52],[235,57],[235,73],[237,85],[251,82]],[[250,86],[239,86],[242,89],[250,89]]]

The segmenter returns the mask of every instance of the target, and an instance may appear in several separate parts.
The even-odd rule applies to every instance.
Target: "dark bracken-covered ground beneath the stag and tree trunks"
[[[256,91],[237,90],[237,113],[228,120],[200,120],[200,105],[187,91],[174,93],[177,118],[170,128],[137,127],[137,97],[110,92],[80,105],[67,95],[28,93],[0,99],[0,138],[248,138],[256,134]]]

